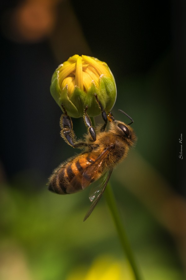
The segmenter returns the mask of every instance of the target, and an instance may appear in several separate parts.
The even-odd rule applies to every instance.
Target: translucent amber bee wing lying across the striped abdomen
[[[92,181],[94,181],[94,177],[100,169],[101,165],[105,161],[105,158],[108,154],[108,148],[106,148],[98,158],[92,162],[83,172],[82,175],[82,189],[88,187]]]

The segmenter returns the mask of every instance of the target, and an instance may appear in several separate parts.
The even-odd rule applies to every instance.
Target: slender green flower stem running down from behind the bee
[[[91,117],[91,122],[92,122],[92,125],[95,126],[95,120],[93,117]],[[131,268],[133,269],[135,279],[141,280],[141,277],[139,275],[139,270],[138,270],[137,264],[135,262],[135,258],[134,258],[129,240],[127,238],[124,226],[122,224],[122,219],[120,217],[120,213],[117,208],[116,200],[115,200],[110,182],[108,182],[108,184],[107,184],[104,195],[105,195],[108,207],[110,209],[111,215],[113,217],[113,221],[115,223],[124,254],[126,254],[126,257],[129,261],[129,263],[131,264]]]

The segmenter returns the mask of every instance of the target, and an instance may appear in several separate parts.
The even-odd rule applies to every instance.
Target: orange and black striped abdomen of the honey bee
[[[95,155],[90,156],[90,153],[86,152],[61,164],[51,175],[48,189],[57,194],[73,194],[82,190],[82,174],[95,159]],[[98,179],[100,175],[98,172],[94,180]]]

